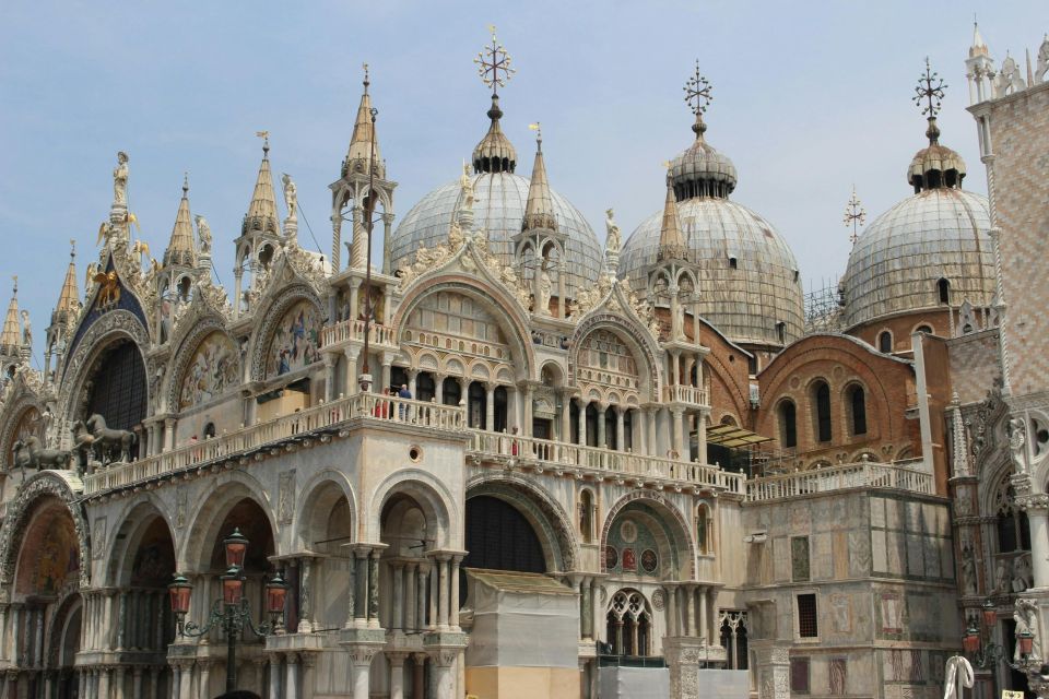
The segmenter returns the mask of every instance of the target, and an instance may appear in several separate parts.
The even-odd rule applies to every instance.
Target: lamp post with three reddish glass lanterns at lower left
[[[248,608],[248,600],[244,596],[244,557],[248,550],[248,540],[240,530],[223,540],[226,549],[226,572],[220,577],[222,581],[222,599],[215,600],[211,606],[207,621],[198,625],[187,621],[189,601],[193,585],[184,576],[175,574],[167,585],[172,602],[172,612],[178,624],[178,635],[190,638],[207,636],[211,629],[219,626],[226,637],[226,691],[237,688],[237,642],[240,633],[247,627],[259,638],[283,630],[284,602],[287,597],[287,583],[280,573],[266,583],[266,609],[269,621],[256,625]]]

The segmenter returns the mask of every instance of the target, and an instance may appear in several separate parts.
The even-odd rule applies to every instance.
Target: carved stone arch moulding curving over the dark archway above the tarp
[[[558,502],[518,475],[484,474],[467,484],[467,500],[487,496],[510,505],[528,520],[539,537],[547,572],[576,569],[579,560],[571,519]]]

